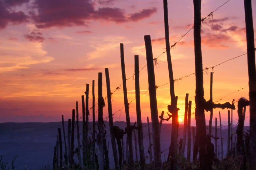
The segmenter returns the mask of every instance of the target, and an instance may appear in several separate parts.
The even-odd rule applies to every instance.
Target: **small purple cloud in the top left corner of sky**
[[[9,22],[13,24],[19,24],[28,21],[28,16],[24,12],[10,12],[7,10],[7,5],[3,0],[0,0],[0,29],[4,29]]]

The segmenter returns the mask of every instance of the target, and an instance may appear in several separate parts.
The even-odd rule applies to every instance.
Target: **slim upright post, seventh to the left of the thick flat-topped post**
[[[86,138],[85,138],[85,104],[84,104],[84,95],[81,96],[82,98],[82,118],[83,118],[83,132],[82,132],[82,145],[83,145],[83,165],[86,165]]]

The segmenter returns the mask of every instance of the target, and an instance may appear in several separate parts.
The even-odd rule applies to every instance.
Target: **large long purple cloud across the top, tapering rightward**
[[[111,3],[113,0],[100,2]],[[35,0],[34,6],[30,15],[37,28],[87,26],[90,20],[116,23],[139,21],[156,13],[156,8],[143,9],[130,16],[117,7],[100,7],[96,10],[90,0]]]

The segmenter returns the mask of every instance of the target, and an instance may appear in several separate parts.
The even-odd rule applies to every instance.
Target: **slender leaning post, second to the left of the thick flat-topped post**
[[[130,114],[129,114],[129,103],[127,99],[127,88],[126,88],[126,75],[125,75],[125,59],[124,59],[124,44],[120,44],[120,56],[121,56],[121,68],[122,68],[122,78],[123,78],[123,89],[124,89],[124,102],[125,102],[125,116],[127,125],[127,137],[129,144],[129,156],[128,165],[133,167],[133,153],[132,153],[132,128],[130,124]]]

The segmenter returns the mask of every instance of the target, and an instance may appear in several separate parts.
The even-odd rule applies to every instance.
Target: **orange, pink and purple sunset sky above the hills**
[[[202,17],[225,2],[202,0]],[[255,1],[252,8],[256,16]],[[182,124],[186,93],[192,101],[191,112],[195,112],[195,75],[190,75],[195,72],[193,1],[168,1],[168,17],[170,44],[183,37],[171,49]],[[164,31],[162,0],[0,0],[0,122],[61,121],[61,115],[67,120],[71,118],[75,101],[79,102],[81,115],[81,95],[85,95],[86,84],[89,84],[89,107],[92,106],[93,80],[97,103],[98,72],[103,73],[103,97],[106,97],[104,68],[109,68],[111,91],[122,83],[120,43],[124,44],[126,78],[134,73],[134,55],[139,55],[140,69],[145,66],[144,35],[151,35],[153,57],[159,56],[155,65],[156,85],[160,86],[158,112],[160,115],[165,111],[167,117],[170,86],[167,58],[163,53]],[[213,72],[213,101],[222,99],[219,102],[224,103],[249,98],[246,55],[218,65],[246,53],[243,1],[230,0],[207,17],[202,23],[201,38],[203,69],[209,68],[204,71],[204,98],[209,100],[210,96],[210,72]],[[134,89],[131,78],[127,80],[128,101],[135,99]],[[140,98],[143,122],[150,117],[147,90],[145,66],[140,71],[140,94],[145,93]],[[123,106],[121,85],[112,95],[114,121],[125,121]],[[89,111],[91,121],[92,110]],[[215,117],[219,120],[219,111],[222,122],[226,123],[227,109],[214,109],[213,120]],[[245,125],[249,122],[248,111],[247,107]],[[129,112],[131,121],[136,121],[135,101],[130,103]],[[107,116],[106,106],[103,117]],[[205,117],[208,124],[210,113],[205,112]],[[234,123],[237,118],[236,109]],[[194,114],[191,124],[195,125]]]

